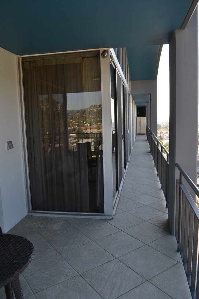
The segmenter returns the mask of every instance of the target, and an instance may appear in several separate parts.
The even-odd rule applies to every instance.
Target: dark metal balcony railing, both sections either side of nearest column
[[[148,126],[146,126],[146,135],[168,205],[169,152]],[[199,209],[184,185],[183,180],[186,180],[197,197],[199,197],[199,190],[179,164],[176,163],[175,165],[179,170],[179,179],[176,180],[175,236],[192,298],[199,299],[199,275],[197,275],[199,272]]]

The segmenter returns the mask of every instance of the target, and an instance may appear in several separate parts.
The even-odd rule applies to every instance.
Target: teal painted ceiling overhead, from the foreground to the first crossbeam
[[[161,44],[192,0],[1,1],[0,46],[18,55],[126,47],[131,80],[155,79]]]

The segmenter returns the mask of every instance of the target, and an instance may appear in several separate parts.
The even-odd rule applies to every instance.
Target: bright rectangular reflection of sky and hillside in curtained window
[[[91,144],[93,152],[99,149],[102,144],[101,91],[67,94],[67,119],[69,149],[77,151],[77,143],[84,142]]]

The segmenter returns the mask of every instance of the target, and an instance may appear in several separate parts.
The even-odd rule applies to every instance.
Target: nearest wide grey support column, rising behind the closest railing
[[[175,30],[169,43],[170,150],[168,219],[175,234],[175,194],[178,163],[196,182],[198,135],[198,18],[193,13],[186,29]],[[189,190],[189,189],[188,189]],[[191,195],[193,192],[189,190]]]

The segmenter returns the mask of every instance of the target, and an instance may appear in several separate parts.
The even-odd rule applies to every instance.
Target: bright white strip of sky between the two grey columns
[[[157,77],[158,123],[169,121],[169,45],[163,45]]]

